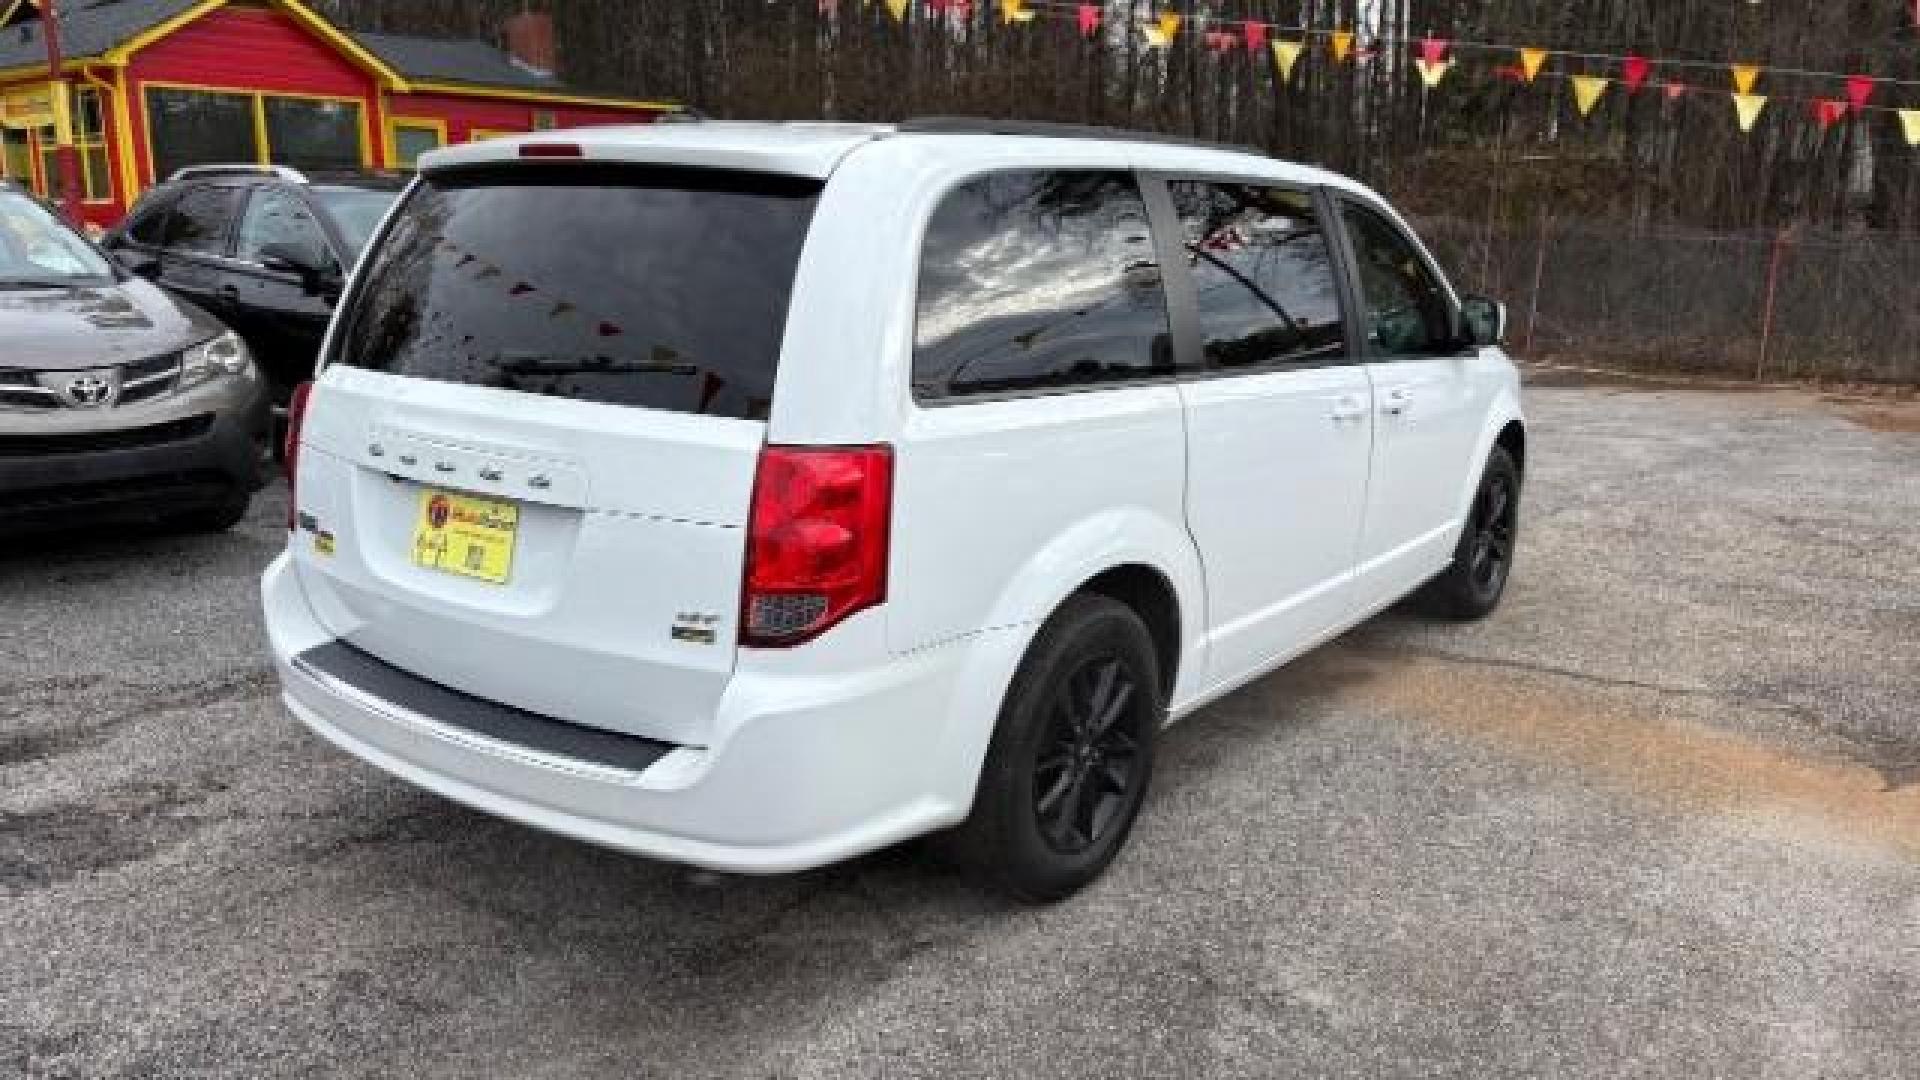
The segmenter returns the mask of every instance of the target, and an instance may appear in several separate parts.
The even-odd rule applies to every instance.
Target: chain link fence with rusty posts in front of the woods
[[[1455,284],[1534,361],[1920,384],[1920,236],[1427,219]]]

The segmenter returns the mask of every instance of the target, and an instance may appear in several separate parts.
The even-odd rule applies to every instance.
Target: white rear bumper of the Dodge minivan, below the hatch
[[[432,692],[413,696],[388,684],[382,696],[369,692],[369,682],[380,690],[376,678],[355,684],[319,669],[311,657],[332,634],[313,617],[298,575],[282,555],[263,578],[288,709],[340,749],[484,813],[605,847],[760,874],[835,863],[958,822],[968,811],[979,759],[966,748],[975,740],[954,740],[950,728],[966,698],[956,694],[964,651],[826,678],[739,673],[714,723],[728,732],[724,742],[655,744],[660,753],[651,763],[643,755],[637,767],[622,767],[611,763],[618,755],[568,753],[564,740],[522,738],[511,724],[428,715],[420,707],[453,707],[432,705]]]

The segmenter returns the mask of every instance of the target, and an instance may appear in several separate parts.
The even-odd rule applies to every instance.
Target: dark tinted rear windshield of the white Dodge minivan
[[[422,179],[334,363],[766,419],[818,181],[516,165]]]

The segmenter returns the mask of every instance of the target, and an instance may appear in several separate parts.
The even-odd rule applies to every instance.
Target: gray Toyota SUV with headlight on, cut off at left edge
[[[228,528],[271,475],[267,432],[238,336],[0,183],[0,536]]]

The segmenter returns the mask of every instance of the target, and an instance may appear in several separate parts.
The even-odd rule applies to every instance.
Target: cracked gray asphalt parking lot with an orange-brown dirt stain
[[[1534,386],[1521,567],[1167,734],[1114,872],[597,851],[307,736],[230,536],[0,555],[4,1076],[1910,1076],[1920,434]]]

